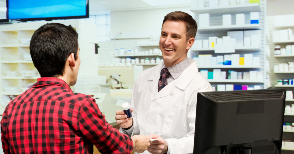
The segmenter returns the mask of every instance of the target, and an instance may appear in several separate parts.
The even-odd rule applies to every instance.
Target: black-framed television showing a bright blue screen
[[[9,19],[88,18],[88,0],[7,0]]]

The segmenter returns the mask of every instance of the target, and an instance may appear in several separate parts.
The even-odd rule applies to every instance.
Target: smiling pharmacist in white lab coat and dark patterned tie
[[[196,32],[189,14],[167,14],[159,43],[163,62],[139,75],[131,97],[133,117],[116,112],[121,132],[158,139],[144,153],[193,153],[197,93],[213,91],[195,60],[187,58]]]

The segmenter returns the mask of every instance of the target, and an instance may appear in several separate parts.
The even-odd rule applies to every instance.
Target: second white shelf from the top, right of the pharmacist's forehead
[[[259,24],[245,24],[245,25],[229,25],[229,26],[209,26],[209,27],[198,27],[197,32],[207,31],[221,31],[221,30],[245,30],[245,29],[260,29]]]

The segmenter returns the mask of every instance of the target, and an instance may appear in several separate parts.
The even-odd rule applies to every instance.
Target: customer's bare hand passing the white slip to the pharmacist
[[[150,138],[145,135],[134,135],[131,138],[134,145],[133,151],[135,151],[136,153],[143,153],[151,144]]]

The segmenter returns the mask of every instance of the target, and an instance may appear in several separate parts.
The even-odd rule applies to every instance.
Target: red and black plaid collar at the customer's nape
[[[38,78],[37,82],[34,84],[33,87],[36,88],[36,87],[42,87],[42,86],[46,86],[46,85],[62,86],[72,92],[71,87],[69,87],[69,85],[64,80],[61,80],[56,77],[40,77],[40,78]]]

